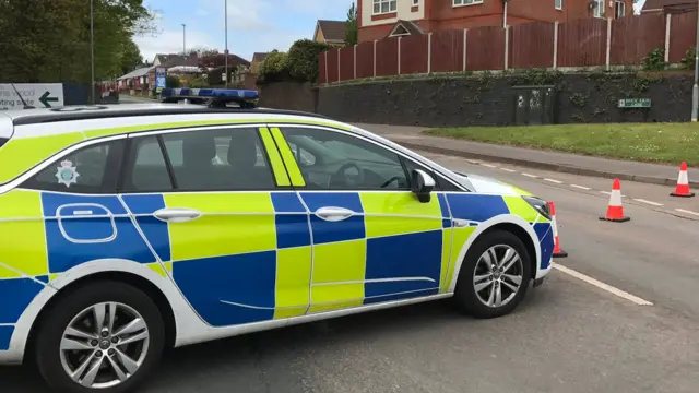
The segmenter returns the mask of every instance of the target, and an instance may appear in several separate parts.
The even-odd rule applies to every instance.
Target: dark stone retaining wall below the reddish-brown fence
[[[692,75],[574,73],[530,70],[521,74],[474,74],[360,81],[320,87],[294,82],[261,87],[261,106],[316,111],[347,122],[460,127],[514,123],[514,86],[554,85],[555,121],[689,121]],[[619,109],[620,98],[651,98],[650,110]]]

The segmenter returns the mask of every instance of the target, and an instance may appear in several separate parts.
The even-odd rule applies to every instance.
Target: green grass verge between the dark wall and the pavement
[[[699,123],[464,127],[428,135],[641,162],[699,166]]]

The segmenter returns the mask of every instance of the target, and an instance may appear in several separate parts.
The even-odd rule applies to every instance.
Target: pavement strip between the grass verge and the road
[[[410,148],[458,155],[461,157],[498,160],[536,169],[553,170],[608,179],[633,180],[644,183],[674,186],[677,183],[677,166],[636,163],[576,154],[538,151],[489,143],[422,135],[422,127],[355,124],[375,132]],[[688,170],[689,184],[699,187],[699,169]],[[697,179],[692,181],[691,179]]]

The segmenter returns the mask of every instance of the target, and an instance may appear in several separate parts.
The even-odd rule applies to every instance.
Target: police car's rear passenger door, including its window
[[[266,128],[137,134],[127,160],[122,200],[206,323],[306,313],[308,213]]]

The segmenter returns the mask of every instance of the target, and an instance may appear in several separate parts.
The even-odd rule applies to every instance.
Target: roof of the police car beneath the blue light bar
[[[106,118],[126,118],[134,116],[158,115],[203,115],[203,114],[268,114],[324,118],[310,112],[269,108],[210,108],[193,104],[108,104],[95,106],[66,106],[59,108],[12,109],[3,114],[14,126],[27,126],[46,122],[88,120]]]

